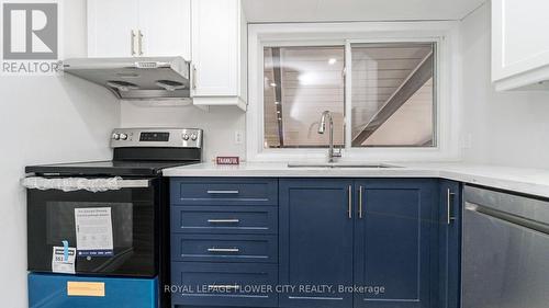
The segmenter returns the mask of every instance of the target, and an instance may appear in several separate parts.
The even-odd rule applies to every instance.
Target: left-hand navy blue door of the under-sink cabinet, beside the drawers
[[[338,286],[352,285],[352,181],[280,180],[279,194],[279,285],[295,286],[279,295],[280,307],[351,307]]]

